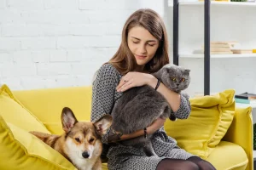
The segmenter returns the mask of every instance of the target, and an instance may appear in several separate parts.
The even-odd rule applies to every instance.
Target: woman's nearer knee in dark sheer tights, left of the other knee
[[[160,161],[156,170],[200,170],[200,167],[192,161],[164,159]]]

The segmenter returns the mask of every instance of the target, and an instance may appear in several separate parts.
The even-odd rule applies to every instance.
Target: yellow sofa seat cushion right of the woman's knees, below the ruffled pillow
[[[244,170],[247,167],[248,159],[245,150],[238,144],[221,141],[209,157],[216,169]]]

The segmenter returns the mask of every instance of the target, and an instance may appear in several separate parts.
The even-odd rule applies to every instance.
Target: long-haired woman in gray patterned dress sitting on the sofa
[[[160,70],[169,63],[166,28],[160,16],[151,9],[140,9],[125,22],[122,42],[116,54],[102,65],[93,83],[91,121],[104,114],[111,114],[113,105],[122,92],[143,85],[156,88],[170,104],[174,116],[186,119],[190,113],[189,100],[172,92],[149,73]],[[121,134],[110,128],[103,136],[108,168],[136,170],[213,170],[212,165],[177,146],[163,128],[166,120],[159,118],[148,126],[146,133],[154,133],[152,143],[157,156],[145,156],[143,150],[124,146],[117,141],[144,135],[144,129]],[[108,144],[108,148],[107,148]],[[108,150],[106,150],[108,149]]]

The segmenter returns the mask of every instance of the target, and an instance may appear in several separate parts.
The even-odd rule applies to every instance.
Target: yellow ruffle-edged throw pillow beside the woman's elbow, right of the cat
[[[166,121],[166,133],[184,150],[206,159],[227,132],[235,114],[235,90],[190,99],[188,119]]]

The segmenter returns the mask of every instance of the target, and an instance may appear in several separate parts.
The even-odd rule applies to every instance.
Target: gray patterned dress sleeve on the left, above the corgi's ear
[[[92,103],[90,121],[95,122],[105,114],[111,114],[114,105],[114,94],[118,85],[119,73],[113,65],[105,64],[97,71],[92,86]],[[102,143],[108,144],[109,129],[102,136]]]

